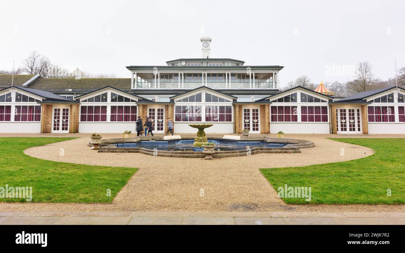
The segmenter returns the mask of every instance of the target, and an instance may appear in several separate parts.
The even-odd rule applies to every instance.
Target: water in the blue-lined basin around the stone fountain
[[[228,140],[228,139],[208,139],[208,142],[214,143],[215,150],[231,151],[243,150],[249,148],[282,148],[287,144],[283,142],[264,142],[262,140]],[[181,140],[142,140],[140,142],[115,143],[117,148],[147,148],[166,151],[203,151],[202,147],[193,147],[194,139]]]

